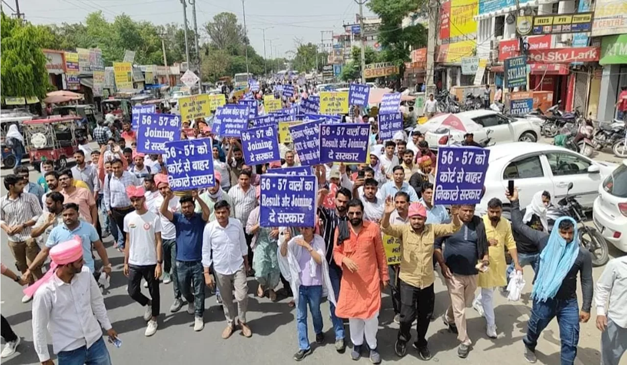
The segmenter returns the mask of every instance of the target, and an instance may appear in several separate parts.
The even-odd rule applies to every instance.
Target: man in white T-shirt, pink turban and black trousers
[[[129,295],[135,302],[146,307],[144,320],[148,322],[145,336],[157,332],[159,316],[159,277],[161,277],[162,248],[161,220],[147,209],[144,188],[126,188],[134,211],[124,217],[124,232],[127,245],[124,247],[124,275],[129,278]],[[150,298],[142,294],[142,278],[148,283]]]

